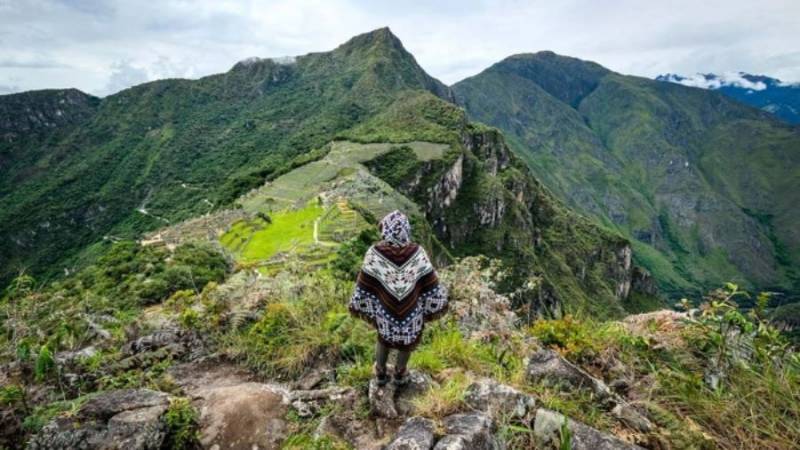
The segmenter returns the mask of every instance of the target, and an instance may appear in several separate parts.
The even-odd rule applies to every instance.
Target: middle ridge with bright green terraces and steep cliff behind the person
[[[498,130],[469,123],[461,109],[430,93],[400,97],[321,152],[241,196],[235,208],[161,229],[145,242],[211,239],[239,264],[269,274],[297,258],[340,264],[333,257],[338,245],[402,209],[440,264],[454,256],[502,260],[500,288],[529,319],[568,312],[620,317],[658,305],[627,240],[565,208]]]

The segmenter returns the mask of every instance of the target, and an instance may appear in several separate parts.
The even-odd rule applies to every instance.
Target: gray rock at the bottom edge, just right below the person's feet
[[[482,413],[453,414],[444,418],[447,435],[434,450],[500,450],[492,419]]]

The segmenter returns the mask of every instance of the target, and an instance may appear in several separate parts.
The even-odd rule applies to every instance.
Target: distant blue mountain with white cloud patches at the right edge
[[[691,76],[668,73],[657,76],[656,80],[719,91],[771,112],[786,122],[800,124],[800,83],[784,83],[777,78],[744,72],[721,75],[698,73]]]

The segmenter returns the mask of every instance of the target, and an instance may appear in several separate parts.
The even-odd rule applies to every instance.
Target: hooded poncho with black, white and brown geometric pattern
[[[394,211],[380,226],[383,241],[364,256],[350,312],[372,324],[388,347],[410,349],[419,342],[425,322],[447,310],[447,290],[425,250],[410,242],[405,215]]]

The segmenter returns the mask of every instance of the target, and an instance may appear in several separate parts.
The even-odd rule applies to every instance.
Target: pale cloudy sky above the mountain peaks
[[[799,0],[0,0],[0,94],[104,96],[252,56],[331,50],[383,26],[447,84],[540,50],[646,77],[800,82]]]

